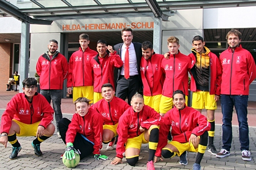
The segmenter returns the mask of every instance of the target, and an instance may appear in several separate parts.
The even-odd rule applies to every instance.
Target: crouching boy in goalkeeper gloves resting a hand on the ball
[[[90,108],[90,100],[79,97],[75,101],[76,113],[73,114],[72,121],[62,118],[59,121],[60,135],[67,145],[63,156],[66,159],[75,159],[75,151],[80,154],[80,159],[94,154],[96,160],[108,159],[101,155],[103,118],[101,114]]]

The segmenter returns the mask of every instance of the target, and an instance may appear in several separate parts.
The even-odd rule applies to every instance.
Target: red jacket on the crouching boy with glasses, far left
[[[53,121],[53,109],[49,105],[46,97],[37,92],[30,103],[25,94],[16,94],[7,104],[5,112],[1,118],[1,133],[9,134],[11,120],[18,120],[23,124],[34,124],[40,122],[40,126],[45,129]]]

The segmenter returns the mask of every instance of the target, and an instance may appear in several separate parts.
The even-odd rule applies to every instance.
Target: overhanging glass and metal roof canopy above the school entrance
[[[256,6],[255,0],[0,0],[0,16],[31,24],[52,20],[155,16],[167,20],[172,11],[191,8]],[[172,11],[171,11],[172,10]]]

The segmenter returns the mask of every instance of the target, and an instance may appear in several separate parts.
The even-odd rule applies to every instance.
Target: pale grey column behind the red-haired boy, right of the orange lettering
[[[154,52],[162,54],[162,18],[154,18]]]

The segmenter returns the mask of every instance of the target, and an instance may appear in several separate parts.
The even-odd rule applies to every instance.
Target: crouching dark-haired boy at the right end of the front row
[[[187,151],[198,152],[193,170],[201,169],[201,159],[208,143],[210,124],[207,118],[199,111],[185,106],[185,94],[176,90],[173,94],[175,108],[164,116],[164,124],[159,129],[159,143],[155,152],[157,157],[172,158],[180,156],[180,164],[187,165]],[[172,141],[167,143],[167,135],[171,128]]]

